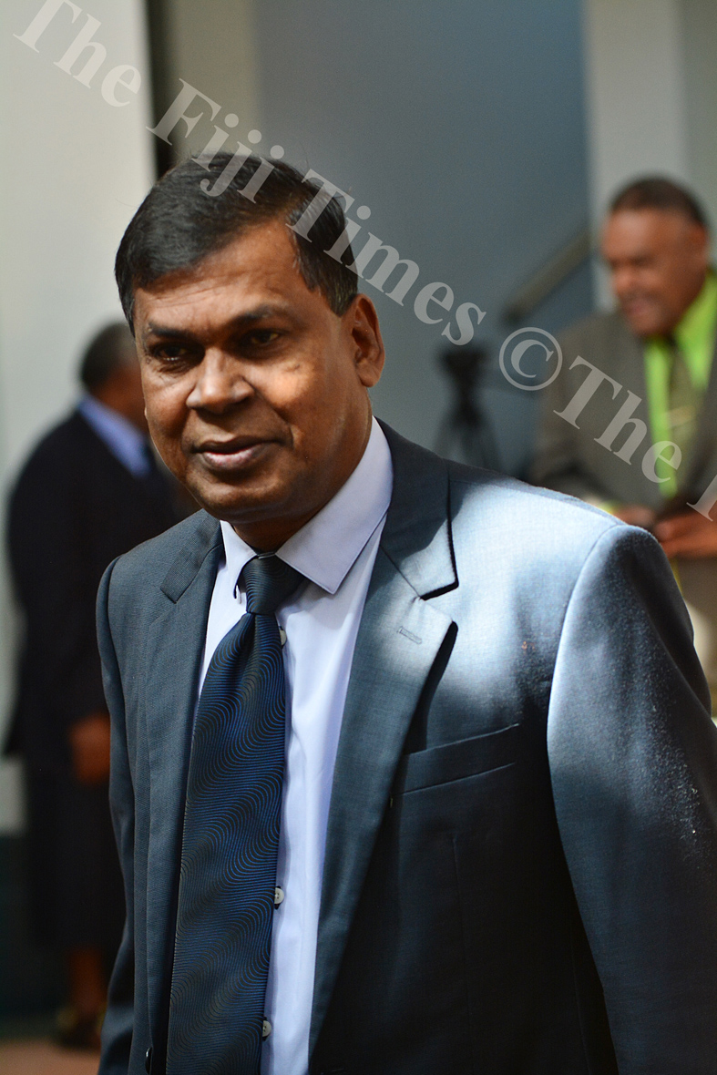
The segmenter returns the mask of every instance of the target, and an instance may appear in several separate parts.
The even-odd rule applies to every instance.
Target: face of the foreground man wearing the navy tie
[[[369,439],[384,349],[373,304],[338,317],[282,220],[138,289],[149,430],[196,500],[276,548],[341,488]]]

